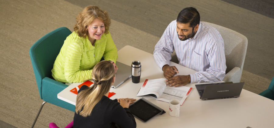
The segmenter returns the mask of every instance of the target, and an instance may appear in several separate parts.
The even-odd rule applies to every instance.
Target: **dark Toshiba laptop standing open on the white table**
[[[195,85],[200,95],[200,99],[226,99],[237,98],[240,96],[244,86],[243,83],[213,83],[213,84],[199,84]]]

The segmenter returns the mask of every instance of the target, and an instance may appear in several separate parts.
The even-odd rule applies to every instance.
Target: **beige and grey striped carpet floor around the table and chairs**
[[[274,76],[274,4],[236,0],[0,0],[0,128],[28,128],[40,99],[29,49],[48,32],[60,27],[72,31],[78,12],[97,5],[109,12],[110,32],[118,50],[131,45],[153,53],[167,25],[185,7],[195,7],[201,21],[237,31],[248,39],[241,82],[244,89],[260,93]],[[46,103],[35,127],[50,122],[65,127],[74,113]]]

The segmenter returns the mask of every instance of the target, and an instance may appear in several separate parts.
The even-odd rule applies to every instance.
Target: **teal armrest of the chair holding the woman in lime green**
[[[73,112],[75,111],[75,105],[57,98],[57,94],[68,87],[67,85],[48,77],[42,79],[42,85],[42,97],[44,101],[71,110]]]

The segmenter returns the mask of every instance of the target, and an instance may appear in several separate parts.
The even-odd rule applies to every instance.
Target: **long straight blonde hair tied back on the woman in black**
[[[115,70],[109,61],[101,61],[93,68],[94,85],[81,91],[76,98],[75,112],[81,116],[90,116],[94,106],[109,91]]]

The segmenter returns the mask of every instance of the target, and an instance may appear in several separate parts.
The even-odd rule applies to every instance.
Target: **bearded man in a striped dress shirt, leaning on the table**
[[[169,66],[174,50],[179,64],[197,71],[195,74],[174,76],[179,73],[175,66]],[[200,22],[199,12],[193,7],[184,8],[177,20],[167,26],[153,56],[167,84],[174,87],[222,81],[227,68],[222,36],[212,26]]]

